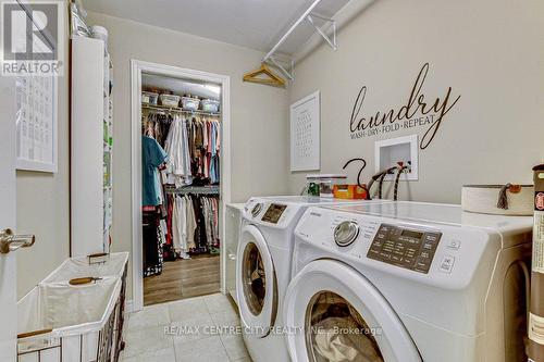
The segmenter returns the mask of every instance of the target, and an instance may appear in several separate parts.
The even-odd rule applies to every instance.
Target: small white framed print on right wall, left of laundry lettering
[[[321,168],[320,91],[290,105],[290,171]]]

